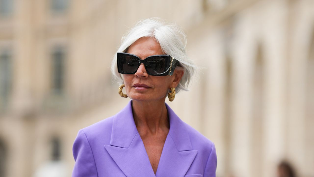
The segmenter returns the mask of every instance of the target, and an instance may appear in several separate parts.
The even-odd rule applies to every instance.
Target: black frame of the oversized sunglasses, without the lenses
[[[138,66],[137,66],[137,69],[132,72],[132,73],[127,73],[127,72],[123,72],[121,70],[121,68],[119,66],[121,66],[122,64],[120,63],[119,59],[120,57],[122,57],[123,55],[129,55],[129,56],[132,56],[136,59],[138,59]],[[152,57],[163,57],[163,58],[167,58],[168,62],[169,62],[169,68],[162,74],[156,74],[156,73],[151,73],[149,72],[149,70],[146,68],[146,63],[147,63],[147,59],[149,58],[152,58]],[[145,58],[144,60],[141,60],[137,55],[134,55],[134,54],[129,54],[129,53],[124,53],[124,52],[117,52],[117,67],[118,67],[118,72],[121,73],[121,74],[135,74],[139,68],[139,66],[141,64],[144,64],[144,67],[145,67],[145,70],[146,72],[151,75],[151,76],[171,76],[176,68],[176,66],[178,66],[179,64],[179,61],[176,60],[175,58],[171,57],[170,55],[151,55],[151,56],[148,56],[147,58]]]

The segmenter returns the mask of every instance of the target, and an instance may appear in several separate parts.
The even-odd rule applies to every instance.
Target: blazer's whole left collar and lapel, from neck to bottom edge
[[[131,104],[132,101],[113,118],[110,145],[105,148],[127,177],[154,177]]]

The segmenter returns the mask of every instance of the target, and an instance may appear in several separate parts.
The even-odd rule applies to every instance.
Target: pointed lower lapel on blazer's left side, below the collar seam
[[[127,177],[155,177],[144,144],[136,134],[129,148],[105,145],[109,155]]]

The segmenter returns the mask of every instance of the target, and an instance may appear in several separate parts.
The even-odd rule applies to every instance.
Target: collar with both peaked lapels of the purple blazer
[[[165,103],[170,129],[156,175],[134,123],[132,100],[113,118],[110,145],[106,150],[127,177],[184,176],[197,150],[192,149],[186,124]]]

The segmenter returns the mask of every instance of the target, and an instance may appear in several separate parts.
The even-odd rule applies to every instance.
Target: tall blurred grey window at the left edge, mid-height
[[[0,51],[0,106],[6,106],[11,90],[11,52]]]

